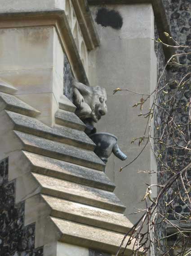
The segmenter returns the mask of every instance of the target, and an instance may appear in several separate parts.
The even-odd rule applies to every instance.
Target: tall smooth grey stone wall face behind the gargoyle
[[[152,40],[154,38],[154,14],[151,4],[148,3],[104,5],[104,7],[118,11],[123,17],[123,26],[117,30],[96,24],[101,44],[95,52],[95,58],[92,58],[92,62],[89,61],[91,65],[89,66],[89,80],[91,86],[103,84],[107,90],[109,111],[98,123],[97,128],[99,131],[118,137],[120,149],[128,155],[127,163],[129,163],[130,159],[134,159],[138,154],[138,142],[131,144],[131,141],[133,137],[137,138],[140,134],[144,134],[147,125],[144,118],[138,117],[140,107],[132,108],[136,102],[140,102],[142,95],[123,91],[113,95],[111,88],[119,87],[148,94],[155,89],[157,63]],[[94,19],[100,8],[102,7],[98,5],[91,7]],[[93,56],[90,53],[89,59]],[[95,68],[93,68],[94,65]],[[117,76],[115,70],[117,70]],[[138,75],[135,75],[137,70]],[[145,102],[143,109],[148,109],[150,103],[149,99]],[[142,147],[143,145],[140,145],[140,150]],[[150,174],[139,173],[140,170],[157,170],[153,158],[148,147],[142,156],[128,166],[124,172],[118,172],[121,166],[126,165],[120,159],[111,156],[107,163],[106,174],[112,181],[115,181],[115,193],[128,206],[126,214],[133,223],[136,223],[139,218],[139,215],[133,214],[135,207],[144,208],[141,200],[147,189],[145,184],[155,184]]]

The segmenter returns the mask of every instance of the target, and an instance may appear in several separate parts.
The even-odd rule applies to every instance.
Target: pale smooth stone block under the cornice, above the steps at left
[[[52,126],[58,101],[63,94],[63,50],[53,25],[30,24],[0,28],[0,77],[17,87],[16,94],[39,109],[42,112],[40,118]],[[47,106],[47,95],[50,93],[53,96]],[[32,98],[37,94],[41,95]],[[46,104],[43,105],[42,101]],[[44,106],[49,108],[48,116]]]

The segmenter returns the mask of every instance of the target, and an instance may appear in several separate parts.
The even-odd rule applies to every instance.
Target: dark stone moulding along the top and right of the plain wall
[[[88,0],[89,5],[106,5],[106,4],[143,4],[143,3],[151,3],[153,6],[154,14],[155,14],[155,23],[158,29],[160,39],[170,45],[173,45],[173,42],[164,36],[164,32],[169,33],[170,28],[169,22],[166,17],[166,12],[162,0]],[[164,54],[166,59],[169,59],[175,51],[171,47],[163,46]]]

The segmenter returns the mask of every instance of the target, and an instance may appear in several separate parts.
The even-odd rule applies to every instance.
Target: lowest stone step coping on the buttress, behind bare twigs
[[[102,228],[91,227],[85,224],[75,223],[64,219],[50,217],[56,227],[62,233],[60,242],[108,251],[115,254],[124,238],[124,234],[116,233]],[[124,241],[122,252],[128,242],[129,236]],[[133,243],[127,246],[124,255],[133,254]],[[120,254],[121,255],[121,254]]]

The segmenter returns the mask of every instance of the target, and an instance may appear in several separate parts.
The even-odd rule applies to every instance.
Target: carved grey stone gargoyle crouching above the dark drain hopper
[[[76,115],[81,120],[97,123],[107,113],[107,93],[100,86],[90,87],[76,80],[72,81]]]

